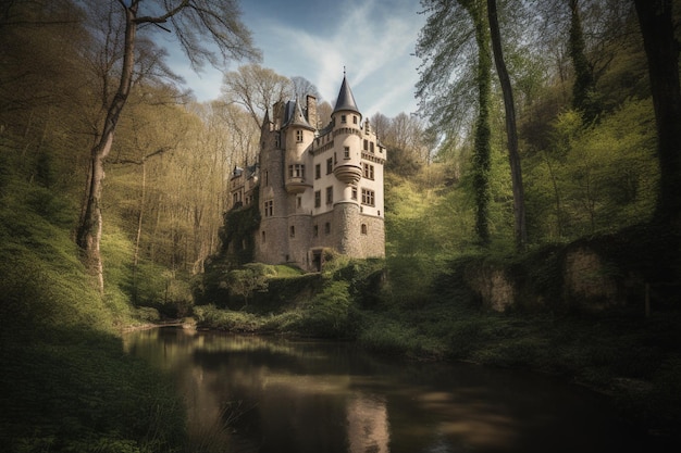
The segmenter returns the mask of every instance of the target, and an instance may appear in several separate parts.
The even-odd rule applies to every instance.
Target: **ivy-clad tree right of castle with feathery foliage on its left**
[[[492,56],[482,0],[422,0],[430,15],[417,42],[423,60],[417,97],[434,127],[446,135],[478,106],[474,125],[473,191],[475,231],[482,244],[490,242],[490,92]],[[472,25],[472,27],[471,27]],[[474,55],[474,56],[473,56]],[[453,75],[454,74],[454,75]],[[470,81],[474,83],[474,88]],[[476,102],[471,100],[473,91]]]

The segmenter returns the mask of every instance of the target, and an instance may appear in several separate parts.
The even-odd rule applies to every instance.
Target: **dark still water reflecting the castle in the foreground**
[[[529,373],[174,328],[125,344],[176,376],[197,451],[651,451],[598,398]]]

